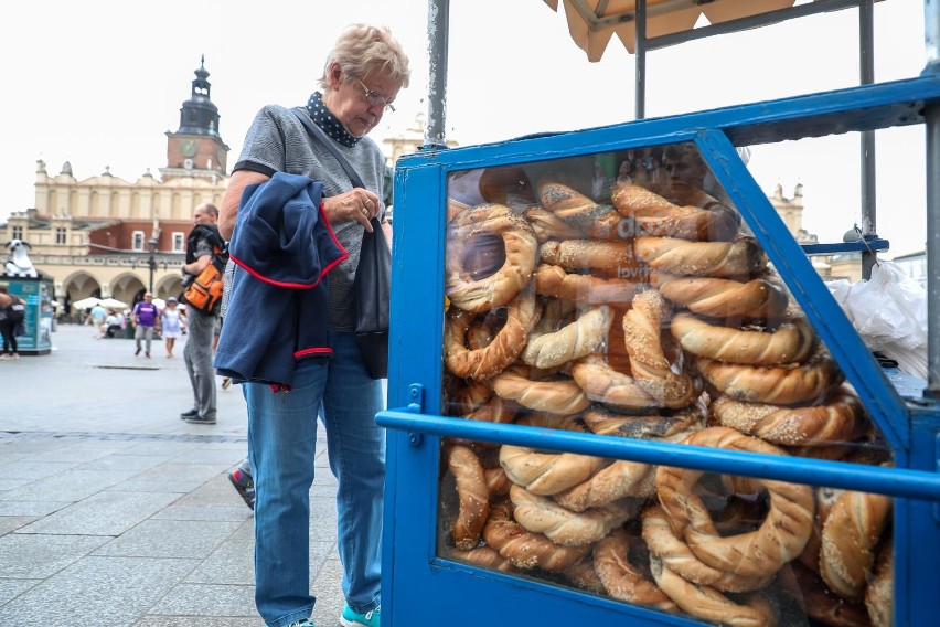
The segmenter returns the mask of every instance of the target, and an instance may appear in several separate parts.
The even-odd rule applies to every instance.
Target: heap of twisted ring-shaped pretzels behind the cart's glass
[[[890,464],[736,211],[519,192],[449,206],[446,415]],[[705,623],[891,624],[887,497],[457,439],[441,469],[450,559]]]

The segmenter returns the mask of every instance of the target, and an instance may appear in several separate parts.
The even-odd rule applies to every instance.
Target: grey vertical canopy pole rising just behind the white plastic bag
[[[858,64],[862,85],[875,82],[875,26],[873,0],[858,3]],[[877,201],[875,198],[875,131],[862,131],[862,237],[878,236]],[[872,278],[877,262],[875,253],[862,252],[862,276]]]

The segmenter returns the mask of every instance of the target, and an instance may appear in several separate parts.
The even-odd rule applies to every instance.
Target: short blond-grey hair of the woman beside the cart
[[[352,24],[340,33],[320,77],[324,92],[330,89],[330,66],[334,63],[343,68],[345,81],[381,74],[407,87],[412,76],[408,57],[387,26]]]

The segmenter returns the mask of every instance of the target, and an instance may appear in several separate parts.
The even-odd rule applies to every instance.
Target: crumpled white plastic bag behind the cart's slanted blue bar
[[[927,290],[894,262],[879,261],[870,280],[827,281],[865,344],[927,379]]]

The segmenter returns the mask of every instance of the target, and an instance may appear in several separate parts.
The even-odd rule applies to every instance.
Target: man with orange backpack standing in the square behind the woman
[[[186,263],[183,265],[189,323],[183,358],[193,387],[193,407],[180,414],[180,417],[199,425],[215,424],[215,369],[212,365],[212,351],[218,307],[214,297],[207,294],[209,290],[202,290],[202,287],[205,287],[203,277],[209,274],[204,274],[204,270],[212,270],[210,266],[224,268],[227,261],[225,241],[216,226],[217,220],[218,209],[215,205],[206,202],[195,208],[195,226],[186,238]],[[196,291],[196,288],[200,288],[200,291]]]

